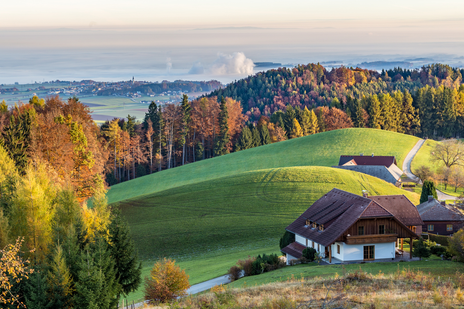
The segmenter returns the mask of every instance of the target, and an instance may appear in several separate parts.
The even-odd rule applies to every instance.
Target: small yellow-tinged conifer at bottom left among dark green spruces
[[[49,264],[47,297],[50,302],[48,306],[50,308],[72,308],[73,282],[60,245],[56,246]]]

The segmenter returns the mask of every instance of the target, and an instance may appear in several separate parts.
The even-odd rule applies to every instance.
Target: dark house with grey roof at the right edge
[[[446,201],[438,201],[429,196],[427,202],[417,205],[424,225],[422,225],[423,233],[432,233],[437,235],[452,235],[462,227],[464,221],[461,212],[449,205]]]

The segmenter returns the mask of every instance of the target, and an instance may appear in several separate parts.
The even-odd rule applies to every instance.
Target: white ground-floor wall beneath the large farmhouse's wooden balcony
[[[362,260],[364,258],[364,246],[375,246],[374,248],[374,258],[375,259],[392,259],[395,257],[395,242],[382,242],[374,244],[354,244],[347,245],[343,244],[343,247],[340,246],[340,255],[342,255],[342,261],[354,261]],[[336,246],[332,247],[332,256],[339,259],[336,255]],[[343,249],[343,251],[342,251]],[[335,252],[335,254],[334,254]],[[342,253],[343,252],[343,253]]]

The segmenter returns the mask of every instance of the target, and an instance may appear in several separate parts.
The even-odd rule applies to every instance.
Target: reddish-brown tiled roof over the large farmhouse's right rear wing
[[[416,206],[405,195],[375,195],[367,198],[387,209],[406,226],[424,224]]]

